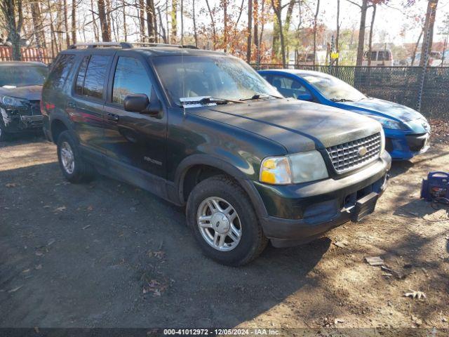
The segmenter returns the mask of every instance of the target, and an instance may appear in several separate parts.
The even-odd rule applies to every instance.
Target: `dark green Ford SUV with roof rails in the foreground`
[[[75,45],[42,100],[67,180],[95,169],[185,205],[203,251],[227,265],[373,212],[391,164],[379,123],[282,98],[225,53]]]

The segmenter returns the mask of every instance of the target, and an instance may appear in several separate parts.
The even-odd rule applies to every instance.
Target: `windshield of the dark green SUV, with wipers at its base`
[[[282,97],[242,60],[228,56],[163,56],[153,59],[156,72],[173,103],[181,98],[210,96],[245,100],[259,94]]]

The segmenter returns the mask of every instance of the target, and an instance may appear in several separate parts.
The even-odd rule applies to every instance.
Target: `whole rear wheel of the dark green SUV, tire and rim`
[[[87,182],[94,176],[93,166],[81,157],[69,131],[63,131],[58,137],[58,161],[62,174],[70,183]]]

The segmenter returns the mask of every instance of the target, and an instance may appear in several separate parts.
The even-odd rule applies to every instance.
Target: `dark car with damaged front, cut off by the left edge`
[[[41,62],[0,62],[0,141],[12,133],[41,131],[41,91],[47,74]]]

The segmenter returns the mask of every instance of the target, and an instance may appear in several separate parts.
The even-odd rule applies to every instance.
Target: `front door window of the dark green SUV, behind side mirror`
[[[126,95],[132,93],[145,93],[150,98],[151,92],[152,83],[142,63],[136,58],[119,57],[114,74],[112,102],[121,105]]]

